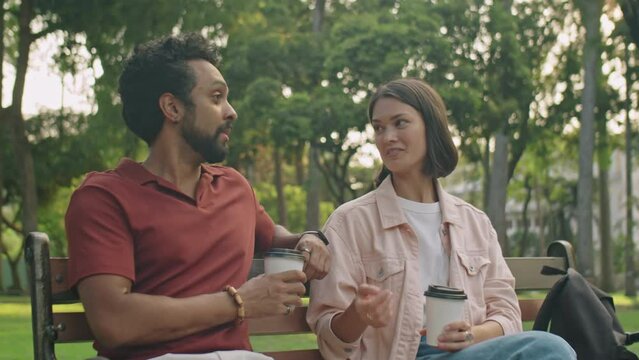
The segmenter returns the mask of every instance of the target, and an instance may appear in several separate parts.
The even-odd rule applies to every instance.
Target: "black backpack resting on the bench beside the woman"
[[[579,360],[638,360],[625,345],[639,341],[639,333],[623,331],[610,295],[572,268],[544,267],[541,272],[565,275],[550,289],[533,330],[548,331],[550,323],[550,332],[564,338]]]

